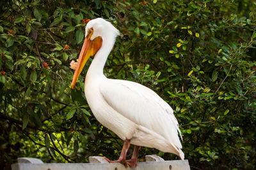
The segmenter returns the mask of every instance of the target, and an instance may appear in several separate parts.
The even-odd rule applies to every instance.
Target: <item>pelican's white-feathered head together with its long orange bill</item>
[[[113,40],[115,42],[116,36],[120,33],[110,22],[104,20],[103,18],[96,18],[90,20],[85,28],[85,39],[84,44],[79,55],[78,64],[76,71],[73,76],[71,83],[71,88],[74,88],[79,74],[83,70],[86,61],[95,53],[98,52],[103,43],[108,43],[107,41]],[[111,47],[112,48],[112,47]]]

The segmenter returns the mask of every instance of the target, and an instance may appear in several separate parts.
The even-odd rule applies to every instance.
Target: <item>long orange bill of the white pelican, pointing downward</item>
[[[71,83],[72,89],[74,88],[76,81],[77,81],[81,71],[83,70],[83,67],[84,67],[84,64],[86,63],[86,61],[91,56],[95,55],[95,53],[98,52],[98,50],[100,49],[100,47],[102,45],[102,38],[100,36],[98,36],[97,38],[95,38],[93,40],[90,40],[92,34],[93,34],[93,30],[84,39],[84,44],[83,44],[81,53],[78,58],[77,68],[76,68],[76,71],[74,73],[73,80]]]

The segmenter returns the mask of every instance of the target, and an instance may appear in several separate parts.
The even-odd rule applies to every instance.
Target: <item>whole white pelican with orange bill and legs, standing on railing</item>
[[[70,67],[76,69],[71,87],[74,88],[86,61],[95,55],[84,82],[86,100],[95,118],[124,140],[119,159],[105,159],[136,167],[140,146],[146,146],[174,153],[183,160],[179,124],[172,108],[154,91],[139,83],[113,80],[103,74],[119,31],[102,18],[88,22],[85,31],[78,62],[70,63]],[[130,143],[135,145],[134,152],[132,158],[126,160]]]

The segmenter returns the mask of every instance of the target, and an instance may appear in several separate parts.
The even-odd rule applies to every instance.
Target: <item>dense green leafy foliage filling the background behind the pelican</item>
[[[138,81],[172,106],[191,169],[255,169],[255,1],[1,4],[1,167],[17,157],[118,158],[122,140],[95,120],[84,97],[87,64],[70,89],[69,63],[79,55],[84,26],[103,17],[122,32],[106,76]],[[147,154],[177,159],[142,148],[140,157]]]

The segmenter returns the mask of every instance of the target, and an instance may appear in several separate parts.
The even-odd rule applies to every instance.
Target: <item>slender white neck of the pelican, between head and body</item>
[[[95,54],[95,57],[92,60],[92,64],[88,69],[86,77],[91,75],[93,75],[93,77],[104,76],[103,74],[104,65],[114,45],[115,45],[115,36],[108,35],[108,36],[102,37],[102,46],[100,47],[99,51]]]

